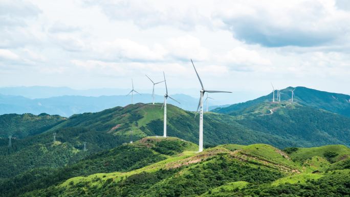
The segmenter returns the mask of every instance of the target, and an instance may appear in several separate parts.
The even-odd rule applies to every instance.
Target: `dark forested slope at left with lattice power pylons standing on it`
[[[53,142],[53,133],[57,133]],[[98,151],[111,149],[127,141],[124,137],[87,128],[61,128],[24,139],[0,140],[0,179],[39,167],[57,168],[75,163]],[[88,151],[83,151],[83,142]]]

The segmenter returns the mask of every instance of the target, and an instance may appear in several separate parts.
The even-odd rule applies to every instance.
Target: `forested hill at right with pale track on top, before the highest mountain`
[[[236,117],[239,124],[266,134],[293,139],[298,146],[350,146],[350,118],[345,116],[286,102],[262,103],[246,109],[245,113]]]

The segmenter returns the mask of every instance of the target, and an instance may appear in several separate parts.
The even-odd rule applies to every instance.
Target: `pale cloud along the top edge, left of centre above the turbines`
[[[208,23],[208,18],[200,14],[197,6],[188,5],[188,1],[85,1],[94,5],[111,19],[129,20],[141,28],[171,26],[180,29],[192,29],[199,23]]]

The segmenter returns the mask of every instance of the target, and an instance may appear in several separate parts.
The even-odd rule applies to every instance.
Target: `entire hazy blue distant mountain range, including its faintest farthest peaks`
[[[31,113],[39,115],[47,113],[50,115],[60,115],[69,117],[73,114],[86,112],[99,112],[115,106],[125,106],[131,103],[131,98],[125,95],[128,89],[89,89],[74,90],[69,87],[50,86],[21,86],[21,87],[1,87],[0,88],[0,115],[1,114],[23,114]],[[149,103],[152,101],[151,90],[137,90],[141,95],[135,95],[134,103]],[[163,103],[164,97],[161,95],[162,87],[156,90],[156,102]],[[176,94],[183,92],[184,94]],[[171,100],[168,102],[183,108],[194,111],[198,105],[199,98],[191,96],[198,90],[176,90],[172,89],[170,95],[179,100],[181,104]],[[158,94],[158,95],[157,95]],[[229,95],[215,94],[211,97],[209,110],[216,107],[229,106],[232,104],[256,98],[256,94],[249,92],[235,92]],[[206,107],[206,105],[205,105]]]

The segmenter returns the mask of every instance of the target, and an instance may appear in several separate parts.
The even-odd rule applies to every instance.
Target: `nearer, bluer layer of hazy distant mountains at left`
[[[169,100],[168,103],[177,105],[184,110],[194,111],[198,105],[198,99],[188,95],[172,95],[181,104]],[[156,102],[163,103],[164,97],[156,95]],[[134,95],[134,103],[151,102],[150,94]],[[60,115],[64,117],[86,112],[99,112],[115,106],[130,104],[131,98],[121,96],[59,96],[51,98],[29,99],[22,96],[0,95],[1,114],[41,114]]]

